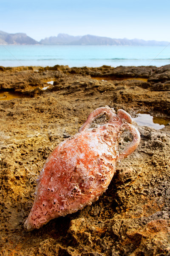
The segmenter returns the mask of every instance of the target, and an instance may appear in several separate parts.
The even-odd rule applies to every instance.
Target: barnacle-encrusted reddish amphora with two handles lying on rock
[[[109,121],[90,128],[105,113]],[[53,218],[82,209],[105,192],[116,164],[132,153],[140,141],[131,116],[108,106],[97,108],[79,132],[60,143],[46,160],[37,182],[35,200],[24,224],[27,230],[40,228]],[[119,138],[127,129],[133,141],[119,152]]]

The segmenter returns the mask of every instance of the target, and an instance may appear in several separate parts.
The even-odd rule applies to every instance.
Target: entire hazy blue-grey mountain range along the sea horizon
[[[73,36],[58,34],[39,42],[25,33],[10,34],[0,31],[0,44],[46,44],[46,45],[131,45],[131,46],[167,46],[167,41],[144,41],[142,39],[116,39],[96,35]]]

